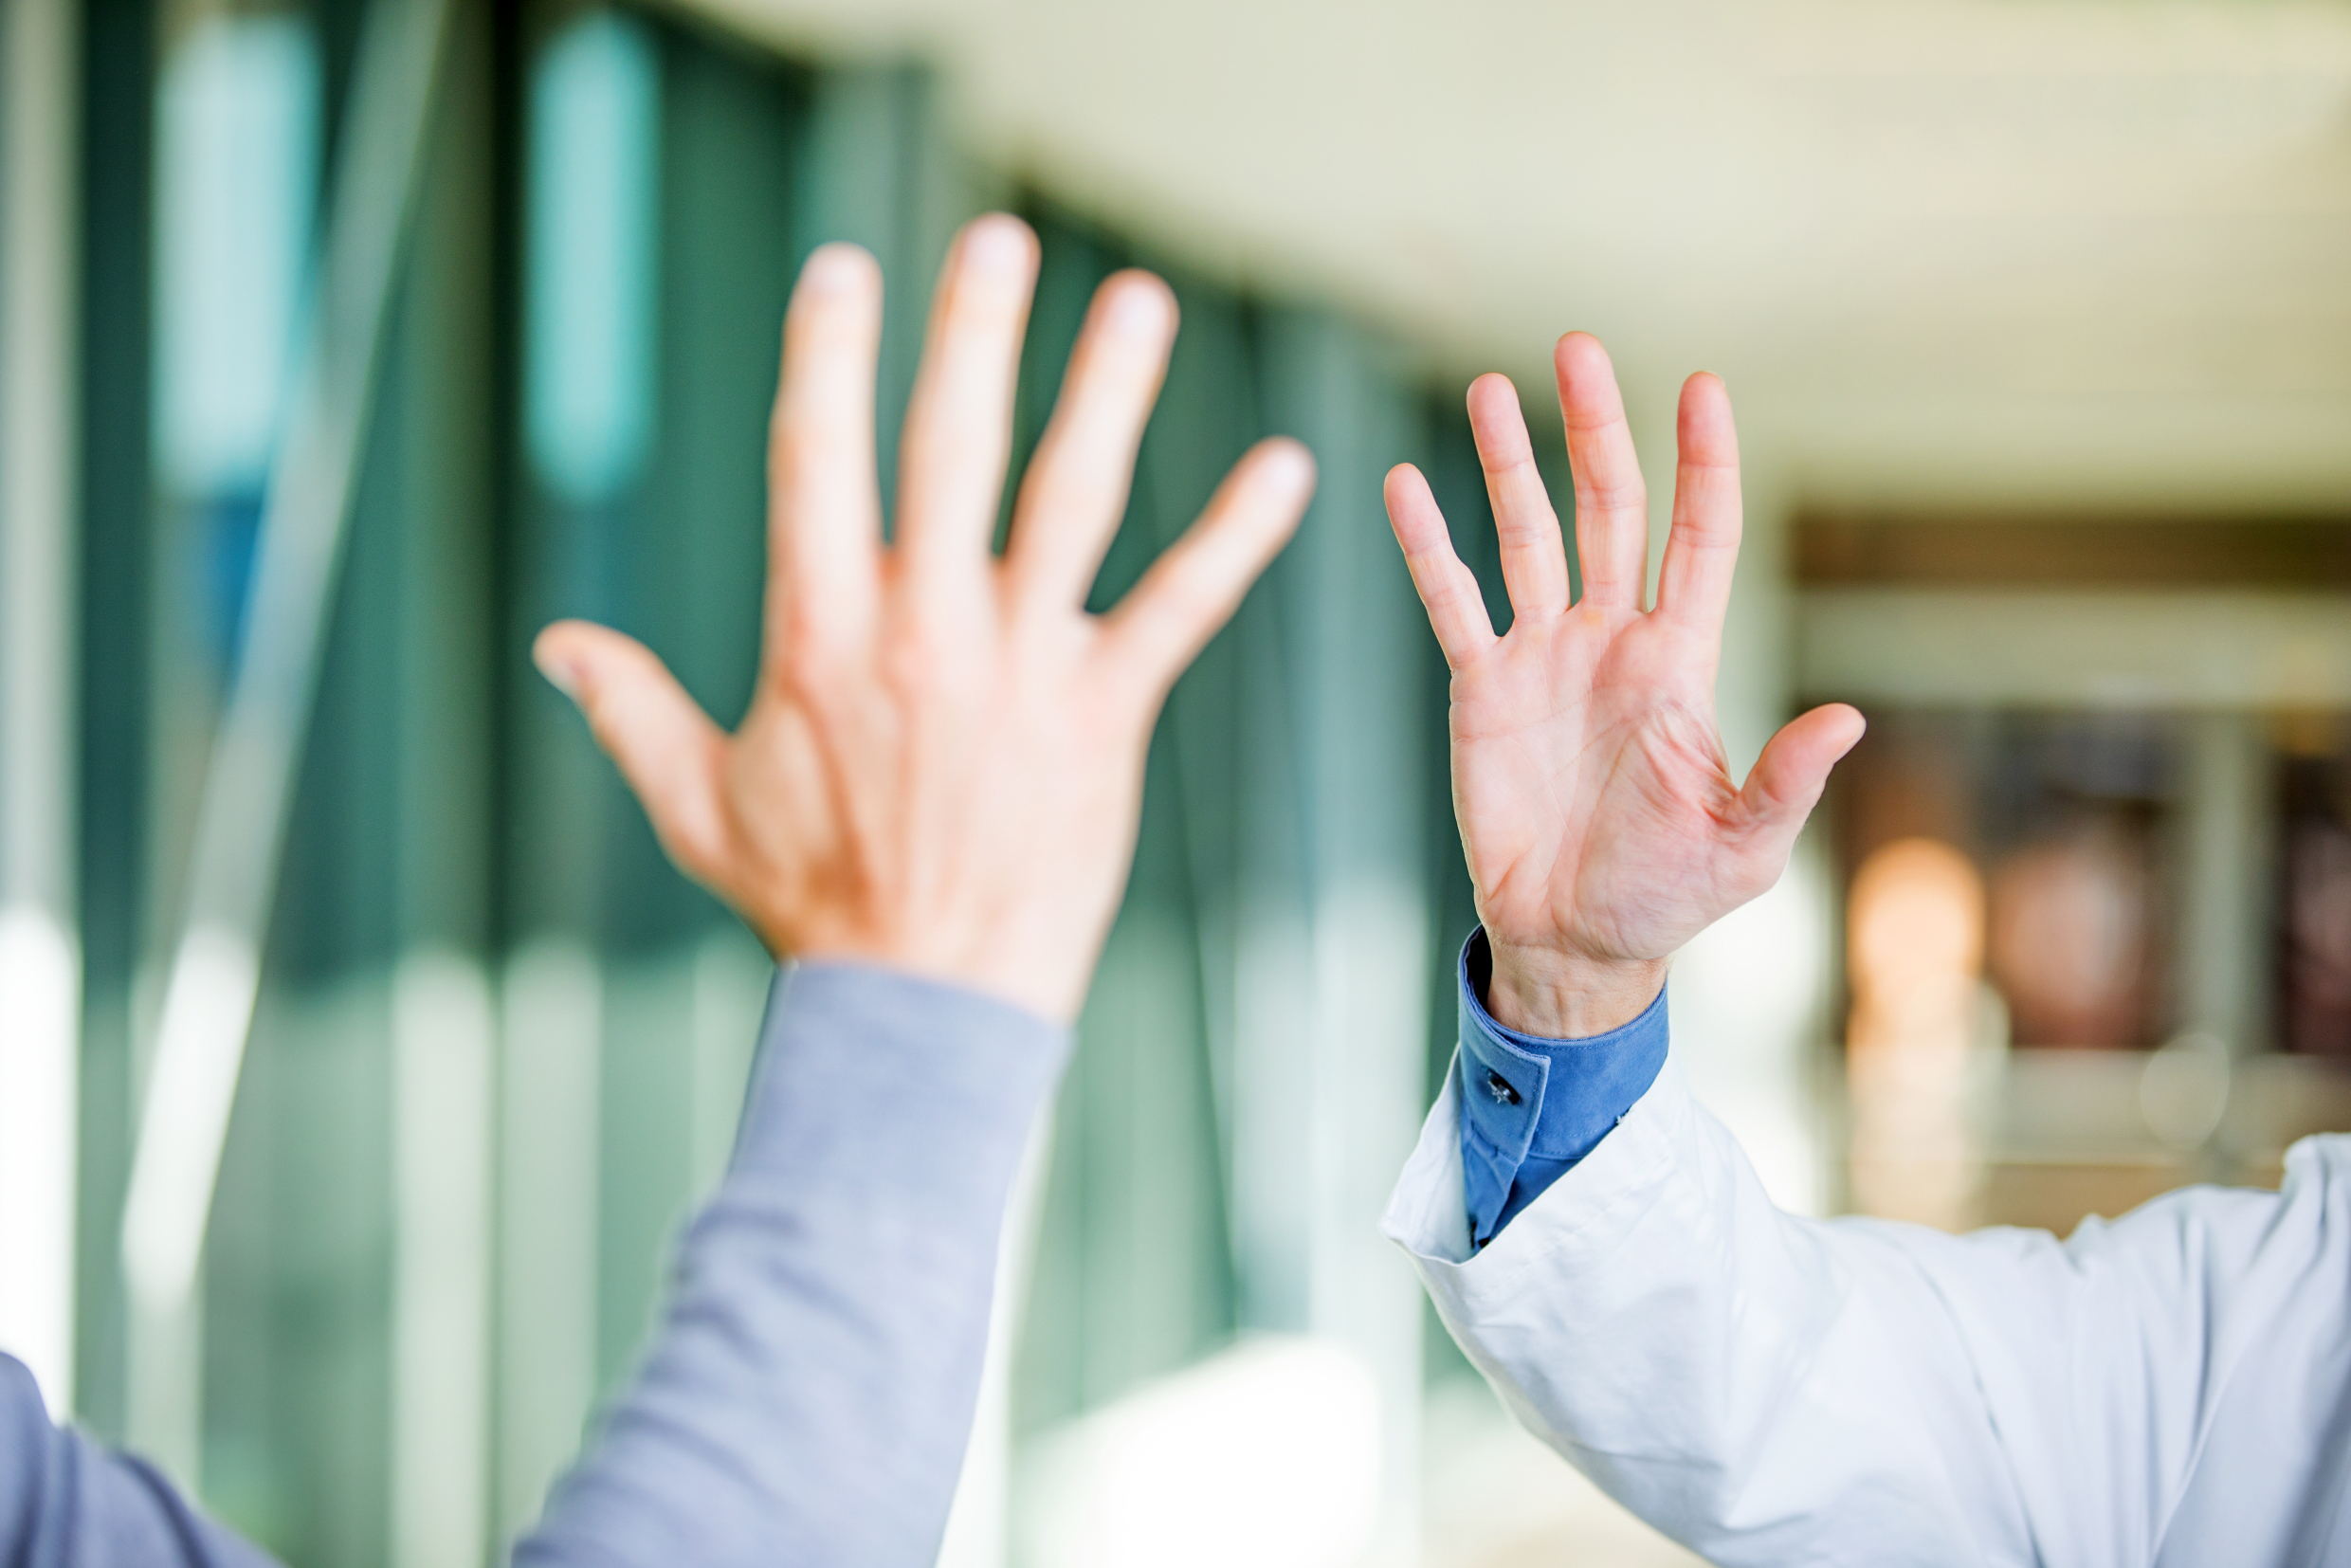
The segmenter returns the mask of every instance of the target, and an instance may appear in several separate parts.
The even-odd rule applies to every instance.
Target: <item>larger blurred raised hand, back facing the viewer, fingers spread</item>
[[[1074,1018],[1133,856],[1168,686],[1295,529],[1314,463],[1258,444],[1107,616],[1086,588],[1126,510],[1176,299],[1119,273],[1093,299],[990,550],[1037,240],[957,237],[905,416],[882,543],[882,277],[828,244],[783,336],[769,433],[766,646],[741,729],[607,628],[538,637],[677,865],[778,954],[870,959]]]

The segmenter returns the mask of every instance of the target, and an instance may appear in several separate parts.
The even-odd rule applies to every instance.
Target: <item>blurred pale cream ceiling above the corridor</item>
[[[698,2],[1444,374],[1719,369],[1806,505],[2351,510],[2342,0]]]

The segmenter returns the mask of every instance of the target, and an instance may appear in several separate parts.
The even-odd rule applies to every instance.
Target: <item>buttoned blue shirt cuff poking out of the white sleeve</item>
[[[1589,1039],[1542,1039],[1486,1011],[1493,950],[1479,926],[1460,957],[1462,1201],[1469,1241],[1512,1218],[1599,1147],[1665,1067],[1665,992],[1627,1025]]]

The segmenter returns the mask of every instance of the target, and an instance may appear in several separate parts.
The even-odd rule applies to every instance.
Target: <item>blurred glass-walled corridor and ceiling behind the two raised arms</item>
[[[952,228],[1039,228],[1023,449],[1171,277],[1105,602],[1260,433],[1324,470],[1154,743],[947,1563],[1690,1561],[1373,1229],[1474,922],[1378,480],[1507,616],[1460,397],[1566,512],[1568,327],[1653,473],[1730,381],[1735,766],[1871,719],[1674,976],[1775,1197],[2064,1232],[2351,1124],[2342,0],[0,16],[0,1347],[296,1568],[489,1561],[724,1164],[769,961],[524,649],[741,712],[830,237],[893,423]]]

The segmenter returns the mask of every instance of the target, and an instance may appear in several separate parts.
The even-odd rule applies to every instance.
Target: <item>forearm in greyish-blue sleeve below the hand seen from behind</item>
[[[926,1568],[1004,1201],[1067,1030],[865,966],[778,983],[734,1166],[534,1568]]]

